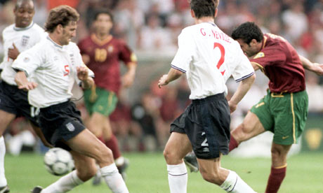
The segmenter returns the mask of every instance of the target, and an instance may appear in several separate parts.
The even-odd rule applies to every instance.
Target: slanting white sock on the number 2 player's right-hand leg
[[[220,187],[226,192],[232,193],[256,193],[242,180],[237,173],[229,170],[229,175]]]

